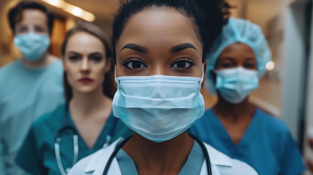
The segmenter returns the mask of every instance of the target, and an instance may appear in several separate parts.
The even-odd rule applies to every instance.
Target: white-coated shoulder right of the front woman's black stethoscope
[[[204,145],[211,165],[216,166],[220,175],[257,175],[256,171],[246,163],[231,159],[206,143]]]

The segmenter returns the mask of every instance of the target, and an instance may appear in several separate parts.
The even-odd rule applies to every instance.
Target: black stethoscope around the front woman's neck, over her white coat
[[[200,141],[197,137],[193,136],[192,134],[189,134],[189,136],[200,145],[200,147],[201,147],[201,149],[203,151],[203,154],[204,154],[205,162],[206,162],[207,175],[212,175],[211,162],[210,162],[210,159],[209,159],[209,156],[208,156],[208,152],[207,152],[207,150],[205,148],[205,145],[203,144],[202,141]],[[109,169],[109,167],[110,167],[114,157],[116,156],[117,152],[127,143],[127,141],[130,138],[131,138],[131,136],[116,145],[113,153],[111,154],[111,156],[107,160],[107,163],[105,165],[105,168],[104,168],[104,171],[103,171],[102,175],[106,175],[107,174],[108,169]]]

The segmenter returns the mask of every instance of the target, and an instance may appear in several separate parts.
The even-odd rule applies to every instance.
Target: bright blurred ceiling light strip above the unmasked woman
[[[50,5],[58,7],[58,8],[62,8],[64,11],[66,11],[66,12],[68,12],[74,16],[80,17],[86,21],[92,22],[95,19],[94,14],[92,14],[88,11],[85,11],[85,10],[83,10],[83,9],[81,9],[75,5],[72,5],[70,3],[66,3],[64,0],[41,0],[41,1],[44,1]]]

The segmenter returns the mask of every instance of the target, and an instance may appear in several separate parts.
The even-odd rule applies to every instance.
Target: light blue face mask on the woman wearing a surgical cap
[[[253,89],[258,87],[258,73],[243,67],[215,70],[215,88],[229,103],[242,102]]]

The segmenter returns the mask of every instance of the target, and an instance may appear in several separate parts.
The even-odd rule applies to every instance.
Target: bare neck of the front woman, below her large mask
[[[162,143],[149,141],[134,133],[123,150],[132,158],[138,174],[178,174],[187,161],[193,139],[183,132]]]

